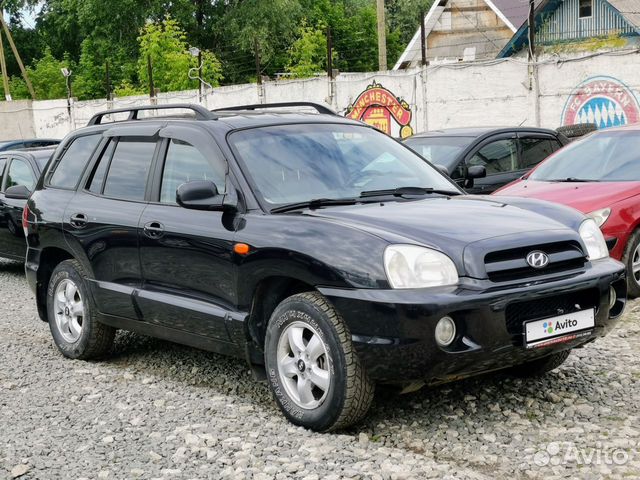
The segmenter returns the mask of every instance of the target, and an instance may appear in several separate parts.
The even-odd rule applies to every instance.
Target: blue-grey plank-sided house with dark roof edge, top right
[[[574,50],[620,48],[640,43],[640,0],[542,0],[535,10],[536,45]],[[498,57],[522,52],[529,26],[523,24]],[[594,39],[607,39],[593,42]]]

